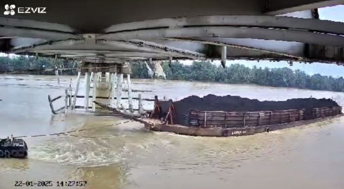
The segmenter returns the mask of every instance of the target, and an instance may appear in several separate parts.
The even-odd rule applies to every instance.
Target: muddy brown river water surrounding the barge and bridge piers
[[[64,94],[76,77],[0,75],[0,135],[7,137],[64,132],[122,122],[82,110],[52,115],[47,95]],[[239,95],[259,100],[333,97],[336,92],[273,88],[254,85],[184,81],[133,80],[133,89],[178,100],[189,95]],[[80,93],[84,94],[84,83]],[[80,94],[79,93],[79,94]],[[91,93],[92,94],[92,93]],[[137,93],[135,94],[137,95]],[[54,103],[63,106],[63,99]],[[83,106],[83,99],[77,105]],[[145,104],[152,109],[152,104]],[[297,128],[231,138],[202,138],[148,132],[140,123],[125,123],[77,136],[25,138],[25,160],[0,159],[0,189],[15,181],[87,181],[87,189],[343,189],[344,118]],[[87,138],[92,137],[92,138]],[[36,187],[52,188],[52,187]]]

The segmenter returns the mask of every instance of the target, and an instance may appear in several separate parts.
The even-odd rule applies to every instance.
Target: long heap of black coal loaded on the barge
[[[168,103],[160,102],[164,107],[163,111],[168,111]],[[339,106],[331,99],[316,98],[293,98],[287,101],[258,101],[257,99],[241,98],[240,96],[216,96],[209,94],[200,98],[189,96],[180,101],[173,102],[176,110],[175,122],[183,124],[183,114],[189,114],[190,109],[201,111],[272,111],[288,109],[305,109],[304,119],[313,119],[313,108]]]

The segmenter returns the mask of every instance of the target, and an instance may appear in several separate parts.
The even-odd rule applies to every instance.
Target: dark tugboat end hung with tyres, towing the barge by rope
[[[28,156],[28,146],[23,139],[0,139],[0,158],[25,158]]]

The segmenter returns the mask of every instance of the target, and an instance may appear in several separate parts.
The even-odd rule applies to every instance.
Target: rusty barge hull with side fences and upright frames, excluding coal
[[[191,109],[189,117],[197,120],[197,126],[183,126],[174,124],[175,112],[176,109],[170,99],[168,112],[163,116],[163,120],[160,120],[163,112],[158,97],[155,96],[154,109],[149,118],[141,120],[145,122],[144,127],[152,131],[204,137],[230,137],[296,127],[343,116],[341,106],[314,108],[313,119],[310,120],[304,120],[304,109],[250,112]]]

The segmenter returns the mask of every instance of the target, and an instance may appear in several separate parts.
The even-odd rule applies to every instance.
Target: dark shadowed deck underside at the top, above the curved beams
[[[259,15],[260,0],[97,0],[79,1],[6,0],[20,7],[46,7],[46,14],[15,14],[11,18],[60,23],[83,33],[99,33],[113,24],[196,15]],[[96,14],[93,14],[96,10]],[[97,11],[101,10],[101,11]],[[135,14],[128,14],[135,12]]]

